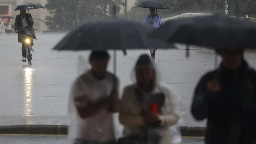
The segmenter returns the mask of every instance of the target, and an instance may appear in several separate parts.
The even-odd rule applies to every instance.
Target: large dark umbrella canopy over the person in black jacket
[[[221,15],[169,21],[149,38],[210,48],[255,48],[256,23]]]

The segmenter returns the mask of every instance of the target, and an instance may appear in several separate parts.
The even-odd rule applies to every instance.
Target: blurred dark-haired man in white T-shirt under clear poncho
[[[113,113],[119,111],[119,82],[107,72],[106,51],[93,51],[89,61],[92,68],[72,86],[68,138],[70,144],[114,144]]]

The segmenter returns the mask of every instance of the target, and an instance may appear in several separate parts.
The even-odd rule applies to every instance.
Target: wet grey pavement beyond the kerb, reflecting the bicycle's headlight
[[[0,126],[3,125],[67,125],[67,104],[71,82],[78,76],[78,55],[87,58],[89,52],[57,52],[52,48],[64,34],[38,34],[32,67],[21,61],[21,44],[17,35],[0,36]],[[180,50],[157,50],[156,65],[161,82],[174,87],[186,106],[182,126],[204,127],[189,114],[193,89],[203,73],[214,68],[214,52],[192,48],[190,58]],[[136,59],[149,50],[117,52],[117,76],[121,87],[131,84],[131,70]],[[256,55],[246,54],[256,66]],[[110,62],[109,70],[113,70]]]

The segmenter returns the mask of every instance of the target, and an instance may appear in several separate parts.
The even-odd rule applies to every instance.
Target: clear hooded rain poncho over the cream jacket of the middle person
[[[138,102],[139,100],[137,97],[137,90],[139,89],[139,91],[141,91],[141,96],[147,95],[149,93],[143,92],[143,90],[141,90],[136,84],[135,71],[136,66],[149,66],[156,72],[156,87],[154,87],[153,91],[156,93],[163,93],[165,95],[163,115],[178,115],[179,117],[178,120],[175,118],[175,116],[173,117],[174,119],[163,119],[162,123],[164,125],[164,130],[162,144],[179,144],[181,143],[182,137],[178,125],[182,125],[182,121],[185,118],[187,108],[184,104],[182,104],[181,97],[179,97],[177,92],[171,86],[162,84],[160,82],[160,69],[156,67],[154,62],[149,62],[146,60],[148,58],[146,58],[145,55],[142,56],[145,59],[143,60],[143,58],[140,57],[131,72],[131,78],[134,83],[126,86],[122,94],[119,119],[120,122],[125,126],[124,136],[127,137],[142,133],[140,127],[140,125],[143,125],[143,120],[140,117],[142,112],[142,105],[140,102]],[[133,115],[134,117],[130,120],[129,115]]]

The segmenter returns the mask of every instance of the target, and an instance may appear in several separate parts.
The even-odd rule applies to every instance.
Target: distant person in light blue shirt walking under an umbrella
[[[152,25],[154,28],[159,28],[160,25],[163,24],[162,19],[158,14],[156,14],[156,8],[149,8],[150,14],[146,16],[145,23]],[[151,58],[154,60],[156,58],[156,50],[157,48],[151,48],[150,54]]]

